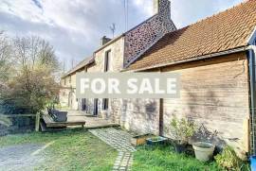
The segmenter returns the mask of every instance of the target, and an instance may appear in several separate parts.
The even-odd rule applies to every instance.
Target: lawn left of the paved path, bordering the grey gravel
[[[82,129],[53,133],[29,133],[0,137],[5,145],[46,144],[55,141],[43,152],[46,161],[35,170],[109,171],[118,152]]]

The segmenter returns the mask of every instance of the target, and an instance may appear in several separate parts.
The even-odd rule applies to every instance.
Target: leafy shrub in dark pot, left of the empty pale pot
[[[174,137],[174,148],[177,153],[186,150],[189,139],[192,137],[196,127],[194,123],[188,119],[177,119],[175,116],[171,121],[171,131]]]

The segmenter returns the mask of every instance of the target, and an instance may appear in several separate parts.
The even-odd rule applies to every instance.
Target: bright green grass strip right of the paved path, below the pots
[[[140,146],[135,152],[133,170],[139,171],[219,171],[216,162],[199,162],[192,156],[177,154],[170,146]]]

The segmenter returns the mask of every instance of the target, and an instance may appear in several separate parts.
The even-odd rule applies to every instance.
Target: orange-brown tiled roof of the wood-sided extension
[[[256,26],[256,0],[166,34],[128,70],[144,69],[243,47]]]

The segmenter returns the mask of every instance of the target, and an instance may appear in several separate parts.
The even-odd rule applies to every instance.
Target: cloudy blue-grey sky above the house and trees
[[[128,1],[128,28],[153,15],[153,0]],[[177,28],[191,25],[244,0],[171,0]],[[39,36],[51,43],[65,70],[91,56],[101,37],[125,31],[124,0],[0,0],[0,30],[9,37]],[[73,61],[73,62],[72,62]]]

